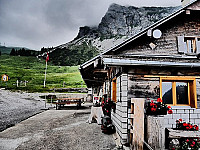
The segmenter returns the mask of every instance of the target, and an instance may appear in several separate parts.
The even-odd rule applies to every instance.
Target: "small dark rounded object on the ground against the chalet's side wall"
[[[102,117],[101,130],[105,134],[113,134],[116,132],[115,126],[112,124],[112,120],[109,116]]]

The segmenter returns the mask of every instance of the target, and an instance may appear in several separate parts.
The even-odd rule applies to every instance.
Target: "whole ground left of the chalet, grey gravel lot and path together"
[[[39,95],[0,90],[0,129],[17,123],[0,132],[0,150],[116,149],[113,135],[103,134],[96,123],[86,123],[88,105],[80,110],[69,106],[39,113],[44,108]]]

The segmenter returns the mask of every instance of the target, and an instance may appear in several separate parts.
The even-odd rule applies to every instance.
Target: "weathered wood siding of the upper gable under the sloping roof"
[[[200,35],[200,11],[191,11],[190,15],[183,12],[179,16],[159,26],[158,29],[162,31],[161,38],[155,39],[145,34],[124,46],[116,54],[179,55],[177,36]],[[149,46],[151,42],[156,45],[156,48],[153,50]]]

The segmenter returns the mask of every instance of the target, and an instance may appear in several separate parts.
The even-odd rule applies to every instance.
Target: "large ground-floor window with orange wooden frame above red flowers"
[[[160,87],[163,103],[197,107],[195,78],[163,77],[160,78]]]

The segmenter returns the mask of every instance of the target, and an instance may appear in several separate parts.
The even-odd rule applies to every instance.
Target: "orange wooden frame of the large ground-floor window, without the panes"
[[[172,101],[171,106],[191,106],[197,108],[196,78],[189,77],[160,77],[160,98],[162,99],[162,82],[172,82]],[[188,84],[188,104],[177,104],[176,82],[187,82]]]

